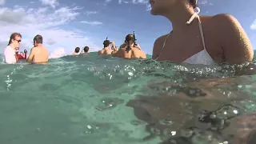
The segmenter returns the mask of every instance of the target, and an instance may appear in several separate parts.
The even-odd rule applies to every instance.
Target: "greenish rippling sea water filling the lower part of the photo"
[[[2,63],[0,143],[233,143],[234,119],[256,110],[251,65],[236,76],[232,66],[93,53]]]

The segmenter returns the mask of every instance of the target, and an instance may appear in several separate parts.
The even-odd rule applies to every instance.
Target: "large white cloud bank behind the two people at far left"
[[[0,7],[1,51],[6,47],[10,34],[14,32],[22,34],[21,50],[29,50],[33,46],[32,40],[36,34],[42,35],[43,44],[50,50],[50,53],[59,47],[64,49],[63,53],[68,54],[73,52],[75,46],[94,47],[94,50],[100,48],[91,38],[82,35],[84,31],[60,28],[78,17],[79,10],[81,10],[79,7],[60,7],[55,10],[49,10],[47,7],[14,7]],[[62,53],[53,55],[59,54]]]

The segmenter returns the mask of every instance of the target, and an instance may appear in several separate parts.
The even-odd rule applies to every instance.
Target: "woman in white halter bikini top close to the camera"
[[[154,42],[153,59],[202,65],[252,61],[250,39],[230,14],[198,16],[197,0],[150,0],[150,5],[151,14],[168,18],[173,27]]]

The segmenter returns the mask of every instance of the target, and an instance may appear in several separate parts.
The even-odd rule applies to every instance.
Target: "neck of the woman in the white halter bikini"
[[[170,10],[165,17],[172,23],[173,30],[186,30],[186,22],[190,20],[194,10],[190,6],[178,6],[175,10]]]

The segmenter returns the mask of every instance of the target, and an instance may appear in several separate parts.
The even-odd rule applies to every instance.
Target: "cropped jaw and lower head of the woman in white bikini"
[[[181,7],[194,9],[197,7],[198,0],[150,0],[151,14],[165,15],[170,11],[178,10]]]

